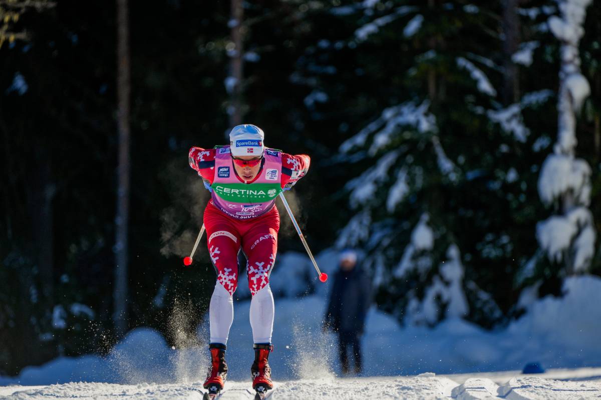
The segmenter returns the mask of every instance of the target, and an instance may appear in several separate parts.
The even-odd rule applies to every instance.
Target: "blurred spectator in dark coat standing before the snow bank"
[[[340,255],[340,269],[334,275],[324,330],[338,333],[338,350],[344,374],[349,372],[347,348],[351,347],[355,359],[355,373],[360,374],[361,344],[359,339],[365,326],[365,315],[371,303],[371,282],[356,266],[357,254],[347,250]]]

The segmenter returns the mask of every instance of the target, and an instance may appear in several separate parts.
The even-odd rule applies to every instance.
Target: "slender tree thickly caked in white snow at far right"
[[[596,233],[588,209],[591,169],[575,157],[576,113],[590,93],[580,71],[578,44],[584,35],[586,8],[591,0],[562,0],[561,17],[549,18],[549,28],[561,41],[560,89],[558,93],[557,142],[538,180],[540,199],[554,215],[537,225],[537,239],[546,257],[561,274],[585,273],[594,255]],[[533,271],[526,271],[532,273]]]

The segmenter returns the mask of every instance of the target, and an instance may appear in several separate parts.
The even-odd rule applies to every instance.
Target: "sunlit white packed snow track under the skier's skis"
[[[452,377],[453,375],[451,375]],[[495,383],[494,376],[456,380],[434,374],[416,377],[332,378],[323,380],[281,381],[270,390],[268,399],[601,399],[601,376],[558,380],[531,375],[516,376],[505,383]],[[465,379],[465,380],[464,380]],[[134,385],[109,383],[67,383],[51,386],[0,387],[0,399],[61,398],[127,399],[202,399],[202,384]],[[228,381],[221,400],[252,400],[248,382]]]

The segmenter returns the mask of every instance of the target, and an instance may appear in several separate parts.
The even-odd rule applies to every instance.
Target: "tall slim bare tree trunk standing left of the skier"
[[[127,0],[117,0],[117,218],[115,218],[115,282],[113,290],[115,334],[127,330],[127,260],[129,228],[129,26]]]

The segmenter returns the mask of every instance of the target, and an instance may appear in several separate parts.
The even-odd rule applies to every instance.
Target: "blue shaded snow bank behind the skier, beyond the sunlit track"
[[[328,273],[337,268],[332,251],[320,254],[318,262]],[[316,285],[315,295],[276,299],[275,350],[270,356],[276,380],[332,377],[340,372],[337,338],[321,331],[331,283]],[[401,327],[390,315],[371,308],[362,338],[364,374],[520,370],[529,362],[544,368],[601,366],[601,307],[593,300],[601,293],[601,278],[567,278],[563,291],[564,297],[532,302],[522,318],[492,332],[459,318],[434,329]],[[229,377],[248,380],[253,359],[249,302],[236,302],[234,309],[227,350]],[[200,337],[207,337],[208,331],[206,324],[201,326]],[[59,357],[25,368],[19,377],[1,377],[0,384],[198,382],[206,373],[206,356],[205,348],[170,349],[157,332],[141,328],[130,332],[108,357]]]

